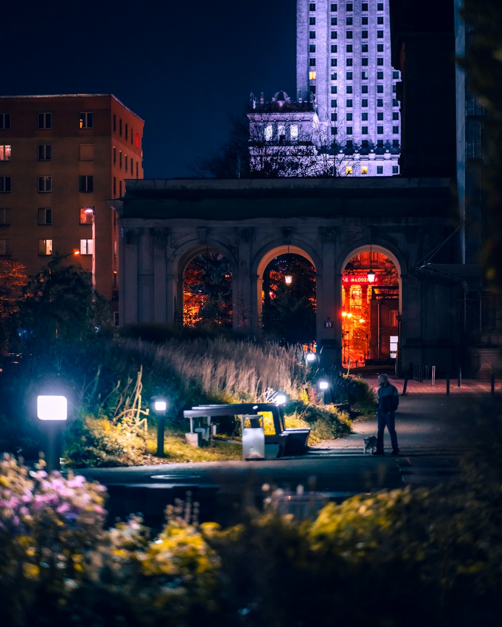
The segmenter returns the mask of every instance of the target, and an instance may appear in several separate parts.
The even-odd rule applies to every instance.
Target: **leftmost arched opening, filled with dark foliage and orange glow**
[[[232,328],[232,266],[217,250],[191,258],[183,272],[183,325]]]

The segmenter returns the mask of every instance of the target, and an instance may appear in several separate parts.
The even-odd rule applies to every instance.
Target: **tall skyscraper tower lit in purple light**
[[[297,0],[297,100],[309,100],[339,174],[399,173],[400,73],[388,0]]]

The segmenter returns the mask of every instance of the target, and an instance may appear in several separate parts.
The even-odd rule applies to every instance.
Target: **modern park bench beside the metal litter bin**
[[[198,405],[191,409],[185,409],[183,416],[190,420],[190,433],[186,434],[187,440],[196,446],[199,445],[200,440],[210,440],[211,435],[215,433],[218,417],[240,416],[244,429],[245,419],[250,419],[251,416],[260,416],[264,412],[272,414],[275,431],[275,433],[265,435],[265,451],[269,453],[268,456],[303,455],[311,430],[309,428],[287,429],[282,406],[274,403]],[[252,426],[255,425],[252,424]],[[196,437],[194,437],[195,434],[197,434]]]

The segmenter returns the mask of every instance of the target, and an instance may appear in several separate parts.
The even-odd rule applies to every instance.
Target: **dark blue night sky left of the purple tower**
[[[13,4],[1,95],[113,93],[145,120],[146,178],[195,176],[250,92],[296,92],[296,0]]]

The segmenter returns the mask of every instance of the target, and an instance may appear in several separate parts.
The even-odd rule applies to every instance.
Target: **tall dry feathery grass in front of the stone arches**
[[[161,345],[127,339],[120,345],[140,359],[147,357],[159,371],[175,372],[186,391],[199,387],[221,401],[256,402],[269,388],[297,399],[306,382],[307,370],[297,363],[294,349],[277,344],[216,338]]]

